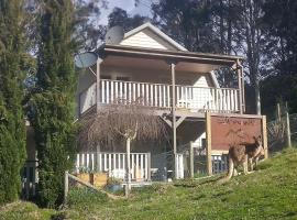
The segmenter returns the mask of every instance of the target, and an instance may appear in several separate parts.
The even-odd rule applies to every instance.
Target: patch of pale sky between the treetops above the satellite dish
[[[113,8],[118,7],[128,12],[128,14],[142,14],[142,15],[151,15],[150,6],[152,0],[140,0],[138,7],[135,7],[134,0],[108,0],[108,9],[101,11],[100,23],[108,23],[108,15],[113,10]]]

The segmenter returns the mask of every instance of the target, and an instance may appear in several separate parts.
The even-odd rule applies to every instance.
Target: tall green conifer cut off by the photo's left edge
[[[22,0],[0,0],[0,204],[18,198],[25,160],[22,6]]]

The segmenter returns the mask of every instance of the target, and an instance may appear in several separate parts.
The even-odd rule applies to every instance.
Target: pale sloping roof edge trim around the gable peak
[[[163,41],[165,41],[166,43],[168,43],[169,45],[172,45],[173,47],[177,48],[177,51],[188,51],[186,50],[184,46],[182,46],[180,44],[178,44],[177,42],[175,42],[172,37],[169,37],[168,35],[166,35],[164,32],[162,32],[160,29],[157,29],[156,26],[154,26],[152,23],[146,22],[140,26],[138,26],[136,29],[133,29],[129,32],[127,32],[124,34],[123,40],[127,40],[128,37],[145,30],[148,29],[150,31],[152,31],[154,34],[156,34],[158,37],[161,37]]]

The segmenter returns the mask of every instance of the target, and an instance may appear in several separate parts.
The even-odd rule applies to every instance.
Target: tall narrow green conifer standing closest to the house
[[[64,172],[76,150],[74,98],[74,6],[70,0],[43,0],[36,90],[31,121],[38,157],[38,200],[44,207],[63,201]]]

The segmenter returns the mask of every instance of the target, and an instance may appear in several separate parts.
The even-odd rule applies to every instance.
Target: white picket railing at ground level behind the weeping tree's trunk
[[[151,180],[151,154],[131,153],[131,178]],[[125,153],[80,153],[76,157],[76,172],[108,172],[110,176],[125,178]]]

